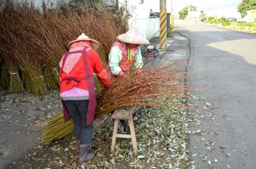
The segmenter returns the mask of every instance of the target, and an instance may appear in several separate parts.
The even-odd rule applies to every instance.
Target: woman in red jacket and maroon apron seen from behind
[[[108,74],[95,52],[99,42],[82,33],[68,44],[69,51],[60,61],[60,97],[65,121],[72,118],[79,146],[78,162],[94,157],[89,146],[92,141],[93,120],[96,109],[95,84],[92,73],[107,87],[111,84]]]

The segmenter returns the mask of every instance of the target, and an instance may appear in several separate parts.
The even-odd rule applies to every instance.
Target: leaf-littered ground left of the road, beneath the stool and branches
[[[138,108],[133,114],[139,149],[136,154],[130,139],[117,139],[115,151],[110,152],[111,114],[96,119],[92,141],[95,158],[80,165],[74,137],[48,144],[40,142],[46,121],[61,111],[58,91],[41,97],[1,93],[0,99],[0,168],[187,168],[190,165],[191,153],[185,146],[190,118],[185,108]],[[130,133],[127,123],[124,128],[119,132]]]

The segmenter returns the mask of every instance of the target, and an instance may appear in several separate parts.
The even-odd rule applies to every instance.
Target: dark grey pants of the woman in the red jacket
[[[80,144],[89,144],[93,131],[93,122],[86,123],[89,100],[64,100],[64,103],[73,120],[76,139],[80,140]]]

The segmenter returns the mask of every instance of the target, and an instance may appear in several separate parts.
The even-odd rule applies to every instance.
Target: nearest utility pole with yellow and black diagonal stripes
[[[160,49],[166,49],[167,26],[166,26],[166,0],[160,0]]]

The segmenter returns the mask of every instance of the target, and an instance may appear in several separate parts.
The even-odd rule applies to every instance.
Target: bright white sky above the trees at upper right
[[[171,1],[171,0],[166,0]],[[177,14],[184,6],[192,4],[198,11],[204,10],[206,16],[224,15],[226,18],[241,18],[237,5],[242,0],[172,0],[173,13]]]

